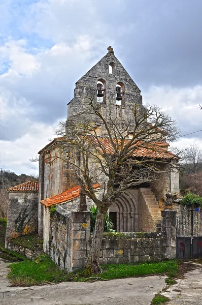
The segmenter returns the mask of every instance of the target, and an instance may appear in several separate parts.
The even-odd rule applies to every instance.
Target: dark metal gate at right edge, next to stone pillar
[[[181,207],[176,211],[176,258],[202,256],[202,209]]]

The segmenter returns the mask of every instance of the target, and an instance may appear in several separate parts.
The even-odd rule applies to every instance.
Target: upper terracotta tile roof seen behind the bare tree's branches
[[[105,147],[107,154],[113,155],[114,147],[112,146],[111,141],[105,137],[99,137],[100,143]],[[125,142],[128,142],[129,139],[126,139]],[[121,144],[121,141],[120,141]],[[175,158],[175,155],[167,150],[169,144],[166,142],[142,142],[134,144],[137,145],[137,149],[133,151],[133,157],[142,157],[142,158],[151,158],[151,159],[172,159]],[[139,146],[139,147],[138,147]]]

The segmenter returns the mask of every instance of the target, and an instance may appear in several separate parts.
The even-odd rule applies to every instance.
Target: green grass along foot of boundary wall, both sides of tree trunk
[[[14,263],[10,268],[9,278],[14,286],[41,285],[64,281],[84,282],[87,280],[83,277],[84,270],[66,273],[64,270],[59,270],[46,254],[37,256],[33,261],[25,259],[20,263]],[[101,277],[105,280],[164,274],[172,279],[172,277],[177,276],[178,262],[177,260],[171,260],[160,263],[108,264],[103,265],[102,269]]]

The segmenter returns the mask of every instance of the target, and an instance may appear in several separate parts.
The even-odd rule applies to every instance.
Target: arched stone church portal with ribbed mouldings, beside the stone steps
[[[138,231],[138,199],[137,190],[127,190],[114,204],[110,206],[110,213],[116,213],[117,232]]]

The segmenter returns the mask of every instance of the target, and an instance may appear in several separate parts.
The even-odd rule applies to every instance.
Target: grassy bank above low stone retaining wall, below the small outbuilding
[[[32,251],[35,251],[36,248],[43,249],[43,238],[38,237],[37,234],[18,236],[13,238],[11,242]]]

